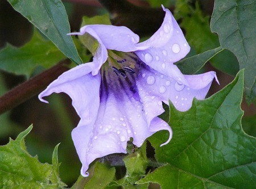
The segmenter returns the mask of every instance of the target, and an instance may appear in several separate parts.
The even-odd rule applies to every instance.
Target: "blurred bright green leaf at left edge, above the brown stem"
[[[27,77],[39,65],[50,68],[65,56],[35,30],[31,41],[23,47],[16,48],[7,45],[0,51],[0,69],[14,74],[24,74]]]

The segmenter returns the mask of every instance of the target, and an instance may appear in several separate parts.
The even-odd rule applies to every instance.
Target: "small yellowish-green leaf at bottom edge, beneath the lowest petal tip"
[[[80,176],[77,182],[72,186],[72,189],[101,189],[108,186],[115,179],[115,167],[110,168],[108,165],[96,162],[89,169],[89,177]]]

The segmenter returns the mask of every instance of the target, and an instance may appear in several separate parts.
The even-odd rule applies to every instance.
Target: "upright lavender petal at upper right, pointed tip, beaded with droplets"
[[[168,9],[163,10],[166,16],[159,30],[150,39],[137,44],[138,47],[149,48],[135,53],[151,68],[171,77],[172,64],[185,57],[190,47],[174,16]]]

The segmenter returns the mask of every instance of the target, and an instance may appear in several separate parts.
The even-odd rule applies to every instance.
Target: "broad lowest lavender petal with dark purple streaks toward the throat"
[[[120,78],[109,72],[102,77],[101,103],[96,122],[94,125],[83,125],[81,117],[79,127],[72,132],[82,162],[81,174],[85,176],[94,159],[112,153],[126,153],[127,141],[131,137],[134,138],[133,143],[139,147],[156,131],[167,130],[170,138],[172,136],[170,126],[156,117],[159,111],[155,111],[154,116],[147,117],[147,104],[140,101],[141,97],[133,85],[133,75]],[[158,107],[163,112],[162,104]]]

